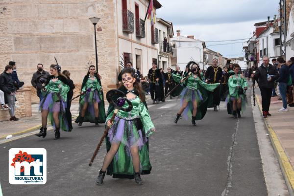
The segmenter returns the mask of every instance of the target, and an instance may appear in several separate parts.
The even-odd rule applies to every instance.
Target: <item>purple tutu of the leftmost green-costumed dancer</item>
[[[48,110],[49,112],[60,112],[60,101],[53,101],[53,93],[48,93],[46,97],[44,97],[41,101],[40,108],[41,110]],[[65,112],[65,109],[67,108],[66,102],[61,100],[62,103],[62,109]]]

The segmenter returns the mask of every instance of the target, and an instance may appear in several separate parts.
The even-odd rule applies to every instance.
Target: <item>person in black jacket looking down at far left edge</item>
[[[10,121],[18,121],[19,119],[15,117],[15,92],[16,87],[12,79],[13,67],[11,65],[6,65],[4,72],[0,75],[0,88],[5,93],[8,105]]]

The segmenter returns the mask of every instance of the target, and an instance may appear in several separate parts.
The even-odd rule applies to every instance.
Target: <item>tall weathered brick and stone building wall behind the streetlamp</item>
[[[117,21],[115,0],[1,0],[0,70],[9,61],[25,87],[38,63],[49,71],[55,64],[70,70],[74,84],[81,84],[87,63],[95,65],[94,25],[90,17],[99,17],[97,25],[98,71],[103,89],[116,87],[118,69]],[[32,100],[38,101],[35,90]]]

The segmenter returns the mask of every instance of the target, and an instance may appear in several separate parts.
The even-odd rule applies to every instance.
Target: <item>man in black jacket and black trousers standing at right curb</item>
[[[269,113],[271,92],[274,85],[274,81],[279,78],[277,68],[269,64],[269,62],[269,57],[265,56],[263,58],[263,64],[256,69],[254,74],[251,74],[251,78],[258,80],[264,118],[271,116],[271,114]]]

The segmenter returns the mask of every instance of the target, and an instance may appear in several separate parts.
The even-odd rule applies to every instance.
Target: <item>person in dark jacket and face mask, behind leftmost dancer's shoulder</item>
[[[37,96],[39,97],[40,101],[43,99],[42,91],[43,88],[42,84],[46,86],[49,83],[49,72],[44,70],[42,64],[37,65],[37,71],[33,74],[31,84],[34,88],[37,89]]]

